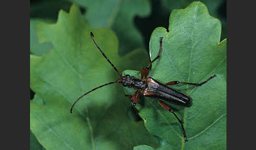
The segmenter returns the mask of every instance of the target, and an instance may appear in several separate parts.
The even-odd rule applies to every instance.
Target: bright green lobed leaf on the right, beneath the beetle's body
[[[194,2],[185,9],[173,10],[169,24],[169,31],[159,27],[151,35],[151,60],[159,52],[160,37],[163,37],[163,51],[160,59],[153,63],[149,77],[162,83],[175,80],[199,83],[213,74],[217,77],[201,87],[172,86],[192,98],[189,108],[167,103],[182,120],[189,142],[184,143],[181,125],[175,116],[155,99],[140,99],[136,105],[139,115],[147,130],[162,139],[160,149],[225,149],[227,39],[220,42],[221,23],[209,15],[204,4]],[[125,74],[140,78],[138,71],[126,70]],[[134,90],[125,88],[125,92],[132,94]]]

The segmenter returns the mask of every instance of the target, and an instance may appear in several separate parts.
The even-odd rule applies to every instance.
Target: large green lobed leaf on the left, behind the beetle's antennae
[[[145,50],[119,57],[113,31],[90,27],[75,5],[70,13],[60,11],[56,24],[38,23],[37,27],[39,42],[54,46],[42,57],[30,56],[31,89],[36,93],[31,101],[31,131],[40,144],[46,149],[157,147],[156,138],[143,122],[130,118],[131,104],[120,84],[86,95],[70,113],[73,102],[82,94],[119,78],[93,44],[90,31],[119,71],[145,66]],[[142,60],[144,63],[139,63]]]

